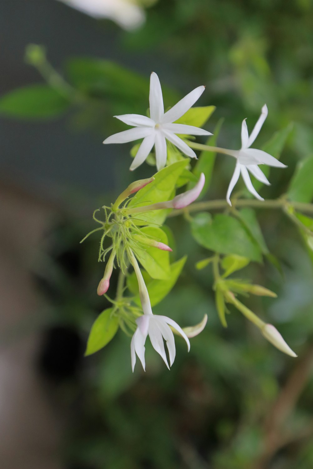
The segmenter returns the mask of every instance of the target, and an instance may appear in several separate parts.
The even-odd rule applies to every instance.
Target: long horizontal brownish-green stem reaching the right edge
[[[232,201],[232,205],[235,208],[240,207],[252,207],[252,208],[263,208],[263,209],[284,209],[287,205],[291,205],[294,209],[299,212],[313,213],[313,204],[305,204],[303,202],[287,202],[285,199],[276,200],[255,200],[255,199],[237,199]],[[229,204],[226,200],[209,200],[204,202],[195,202],[180,210],[173,210],[168,217],[176,217],[181,215],[183,212],[200,212],[202,210],[222,210],[229,208]]]

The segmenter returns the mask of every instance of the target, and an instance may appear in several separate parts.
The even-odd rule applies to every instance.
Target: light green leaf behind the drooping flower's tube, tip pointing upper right
[[[174,287],[180,273],[183,270],[186,259],[187,256],[184,256],[180,260],[170,265],[170,274],[168,280],[153,280],[151,277],[149,278],[145,272],[142,272],[149,292],[151,306],[155,306],[156,304],[160,303],[160,301],[162,301],[163,298],[165,298]],[[134,272],[127,277],[127,287],[132,293],[137,295],[134,298],[134,301],[138,304],[138,306],[140,306],[141,303],[138,295],[138,282]]]

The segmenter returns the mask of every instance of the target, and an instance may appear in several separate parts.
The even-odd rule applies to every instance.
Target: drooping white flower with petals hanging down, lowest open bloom
[[[154,314],[144,314],[140,318],[136,319],[138,325],[130,343],[131,353],[131,367],[134,371],[136,363],[136,354],[141,361],[143,369],[145,370],[145,340],[149,335],[154,350],[160,354],[163,358],[166,366],[172,366],[175,355],[175,340],[174,334],[169,326],[174,327],[178,333],[182,335],[188,346],[188,352],[190,350],[190,342],[187,335],[183,332],[183,329],[173,319],[167,318],[166,316],[157,316]],[[168,359],[166,357],[164,342],[166,341],[168,347],[169,366]]]

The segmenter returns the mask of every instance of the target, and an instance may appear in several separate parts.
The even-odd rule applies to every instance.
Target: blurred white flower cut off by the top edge
[[[60,1],[94,18],[109,18],[126,30],[138,28],[145,21],[145,12],[135,0]]]

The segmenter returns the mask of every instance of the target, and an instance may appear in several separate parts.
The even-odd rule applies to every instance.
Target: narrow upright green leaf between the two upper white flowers
[[[208,138],[208,140],[206,141],[206,145],[211,145],[211,146],[216,145],[216,141],[219,136],[223,121],[224,119],[220,119],[218,121],[214,129],[214,135]],[[196,166],[193,169],[193,174],[196,176],[196,181],[198,181],[201,173],[204,173],[204,175],[206,176],[206,182],[204,184],[204,187],[198,199],[202,199],[210,187],[215,158],[216,158],[216,153],[214,151],[201,151],[199,159],[196,163]],[[188,189],[192,189],[195,185],[196,185],[196,182],[190,182],[188,184]]]

